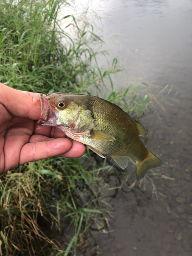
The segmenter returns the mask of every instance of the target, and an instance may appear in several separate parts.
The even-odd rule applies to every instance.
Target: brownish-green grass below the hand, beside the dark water
[[[104,168],[109,166],[100,170]],[[78,244],[79,232],[85,232],[96,216],[97,227],[104,225],[104,208],[95,191],[96,184],[104,184],[94,175],[98,169],[86,169],[79,159],[55,158],[25,164],[1,176],[1,236],[5,246],[2,255],[17,255],[15,250],[25,254],[30,250],[31,255],[37,255],[45,244],[58,248],[40,230],[42,219],[53,230],[60,230],[61,219],[74,225],[74,239],[66,246],[68,250]]]

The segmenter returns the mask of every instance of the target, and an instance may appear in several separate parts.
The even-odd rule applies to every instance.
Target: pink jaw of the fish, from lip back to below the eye
[[[41,114],[39,120],[36,122],[38,125],[55,126],[58,118],[56,110],[50,105],[46,95],[39,93],[39,100],[41,106]]]

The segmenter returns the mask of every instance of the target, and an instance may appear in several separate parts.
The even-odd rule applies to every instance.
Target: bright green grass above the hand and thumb
[[[86,24],[80,29],[70,15],[62,19],[69,19],[66,27],[75,30],[77,39],[60,28],[57,16],[63,5],[67,3],[55,0],[20,1],[16,6],[14,1],[1,1],[0,79],[4,84],[33,92],[79,93],[90,84],[98,87],[109,77],[110,72],[101,73],[96,62],[90,68],[97,53],[88,42],[93,38],[101,40],[93,28]],[[61,38],[66,39],[65,46]],[[78,75],[81,80],[77,84]]]

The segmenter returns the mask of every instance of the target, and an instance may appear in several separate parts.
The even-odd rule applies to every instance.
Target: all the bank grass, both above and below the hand
[[[138,96],[139,84],[123,93],[114,91],[117,59],[108,70],[98,67],[97,55],[101,53],[91,45],[102,40],[92,24],[87,20],[79,24],[76,16],[67,13],[58,16],[61,7],[68,7],[67,2],[0,0],[0,6],[2,83],[45,94],[90,93],[94,88],[99,96],[124,106],[125,111],[138,116],[144,113],[148,96]],[[65,20],[65,29],[60,27],[61,20]],[[75,37],[66,32],[69,28]],[[106,84],[111,91],[108,88],[105,95]],[[108,185],[101,174],[112,167],[106,159],[103,162],[93,155],[88,150],[80,159],[32,162],[0,177],[1,256],[76,255],[91,226],[98,230],[107,226],[108,209],[101,199]],[[61,231],[63,224],[67,226],[66,240],[59,244],[50,234]]]

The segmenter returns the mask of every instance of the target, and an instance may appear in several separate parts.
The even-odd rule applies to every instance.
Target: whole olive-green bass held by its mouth
[[[148,136],[144,127],[112,102],[92,95],[65,93],[39,93],[39,100],[38,125],[58,127],[100,157],[110,155],[122,169],[127,167],[129,157],[135,159],[137,180],[148,169],[162,165],[139,138]]]

